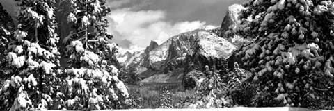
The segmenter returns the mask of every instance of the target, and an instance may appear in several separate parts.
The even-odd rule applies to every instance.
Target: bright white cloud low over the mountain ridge
[[[205,22],[176,22],[166,20],[166,12],[163,10],[140,10],[131,8],[116,9],[109,19],[109,33],[113,34],[114,40],[122,48],[138,45],[145,47],[150,40],[166,41],[173,35],[193,31],[205,26]]]

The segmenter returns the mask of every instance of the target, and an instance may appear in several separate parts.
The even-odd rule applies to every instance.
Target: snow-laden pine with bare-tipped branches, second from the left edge
[[[117,44],[106,32],[109,14],[105,0],[71,0],[67,22],[73,31],[64,38],[70,57],[67,74],[67,110],[101,110],[116,108],[118,100],[127,97],[127,88],[118,79],[113,65]]]

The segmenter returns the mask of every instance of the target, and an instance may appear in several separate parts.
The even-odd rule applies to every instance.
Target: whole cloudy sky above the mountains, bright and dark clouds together
[[[150,40],[164,42],[203,26],[221,26],[228,6],[246,0],[106,0],[111,7],[108,31],[124,49],[145,48]],[[14,10],[13,0],[0,0]],[[11,5],[10,5],[11,4]],[[10,12],[10,11],[9,11]],[[13,14],[13,12],[12,12]]]

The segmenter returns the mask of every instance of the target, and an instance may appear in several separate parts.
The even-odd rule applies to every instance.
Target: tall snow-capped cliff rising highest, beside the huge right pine
[[[226,16],[221,23],[221,30],[218,32],[220,37],[227,38],[225,35],[225,31],[228,31],[229,28],[235,30],[237,26],[240,24],[240,20],[238,19],[241,10],[244,10],[243,6],[239,4],[234,4],[228,7],[228,11],[226,12]]]

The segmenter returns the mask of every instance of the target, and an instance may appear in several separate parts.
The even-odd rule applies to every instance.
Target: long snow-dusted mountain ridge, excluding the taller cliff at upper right
[[[135,67],[138,74],[144,75],[142,82],[181,82],[190,71],[202,71],[205,65],[222,68],[236,47],[214,32],[198,29],[182,33],[154,49],[156,43],[151,42],[123,65]]]

